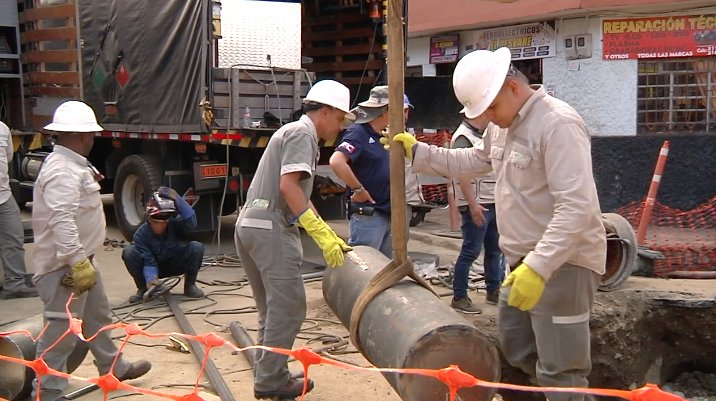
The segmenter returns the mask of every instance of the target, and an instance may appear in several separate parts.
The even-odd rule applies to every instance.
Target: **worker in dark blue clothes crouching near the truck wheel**
[[[168,187],[160,187],[147,201],[147,221],[134,234],[132,245],[122,250],[122,260],[137,285],[130,303],[142,302],[152,293],[164,290],[159,279],[184,275],[184,295],[201,298],[204,292],[196,286],[204,244],[189,241],[196,227],[194,209]],[[149,291],[149,292],[148,292]]]

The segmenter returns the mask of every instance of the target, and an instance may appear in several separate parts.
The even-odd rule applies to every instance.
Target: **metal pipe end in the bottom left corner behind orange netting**
[[[0,332],[27,330],[32,338],[37,338],[44,327],[42,315],[21,320],[7,326],[0,327]],[[0,355],[17,359],[32,361],[35,359],[37,344],[25,334],[12,334],[0,337]],[[67,359],[67,371],[72,373],[77,369],[87,355],[87,343],[77,341],[74,351]],[[32,380],[35,372],[18,363],[0,361],[0,397],[8,400],[18,400],[30,394]]]

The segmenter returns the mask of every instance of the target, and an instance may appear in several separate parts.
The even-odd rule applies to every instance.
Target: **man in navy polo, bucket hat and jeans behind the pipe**
[[[388,126],[388,87],[376,86],[353,112],[356,121],[331,156],[330,165],[350,188],[348,245],[368,245],[392,258],[390,160],[380,143]]]

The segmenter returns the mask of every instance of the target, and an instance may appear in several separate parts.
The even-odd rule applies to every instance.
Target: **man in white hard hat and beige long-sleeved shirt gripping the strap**
[[[541,386],[586,387],[589,316],[606,263],[587,127],[568,104],[529,85],[507,48],[467,54],[453,87],[466,118],[485,114],[499,126],[481,147],[443,149],[407,134],[394,140],[429,174],[474,178],[494,169],[500,248],[511,267],[498,303],[502,352]]]

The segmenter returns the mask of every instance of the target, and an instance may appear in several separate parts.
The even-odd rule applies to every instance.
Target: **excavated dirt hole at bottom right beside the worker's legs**
[[[478,318],[476,325],[486,322]],[[716,401],[716,299],[648,288],[601,292],[590,325],[591,387],[652,383],[685,399]],[[502,380],[528,384],[504,359]],[[505,401],[544,400],[541,394],[501,393]]]

